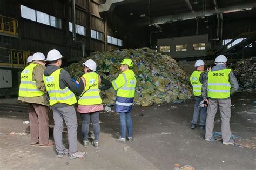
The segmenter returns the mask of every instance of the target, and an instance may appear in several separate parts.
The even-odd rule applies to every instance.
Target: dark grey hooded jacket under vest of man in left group
[[[53,72],[55,72],[59,67],[56,65],[51,65],[49,64],[46,69],[44,70],[44,76],[50,76]],[[62,69],[60,71],[59,75],[59,88],[60,89],[65,89],[66,87],[69,87],[69,89],[74,92],[76,90],[76,83],[72,80],[70,77],[70,74],[68,71]],[[53,105],[52,107],[68,107],[69,105],[64,104],[64,103],[57,103]]]

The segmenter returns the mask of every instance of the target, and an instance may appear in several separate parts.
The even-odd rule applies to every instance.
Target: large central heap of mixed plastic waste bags
[[[134,104],[150,106],[191,98],[189,78],[176,60],[148,48],[95,52],[79,63],[71,64],[66,70],[72,78],[78,79],[84,74],[82,63],[93,59],[97,63],[97,73],[113,81],[120,73],[120,62],[124,58],[132,59],[132,70],[136,74]],[[103,104],[114,104],[116,91],[113,88],[101,91],[100,95]]]

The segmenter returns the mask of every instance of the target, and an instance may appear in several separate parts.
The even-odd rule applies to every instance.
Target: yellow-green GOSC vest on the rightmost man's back
[[[230,97],[230,75],[231,69],[223,69],[208,72],[207,96],[215,99]]]

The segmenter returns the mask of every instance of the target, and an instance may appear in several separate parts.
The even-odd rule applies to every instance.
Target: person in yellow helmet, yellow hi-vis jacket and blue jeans
[[[131,70],[133,62],[125,58],[121,62],[121,71],[117,79],[112,82],[114,90],[117,90],[116,112],[119,113],[121,137],[117,142],[126,142],[126,123],[128,131],[128,141],[132,141],[132,118],[131,111],[136,87],[136,78]]]

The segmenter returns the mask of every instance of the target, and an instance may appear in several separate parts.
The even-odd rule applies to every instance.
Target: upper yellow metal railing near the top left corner
[[[17,28],[17,19],[0,15],[0,32],[18,36]]]

